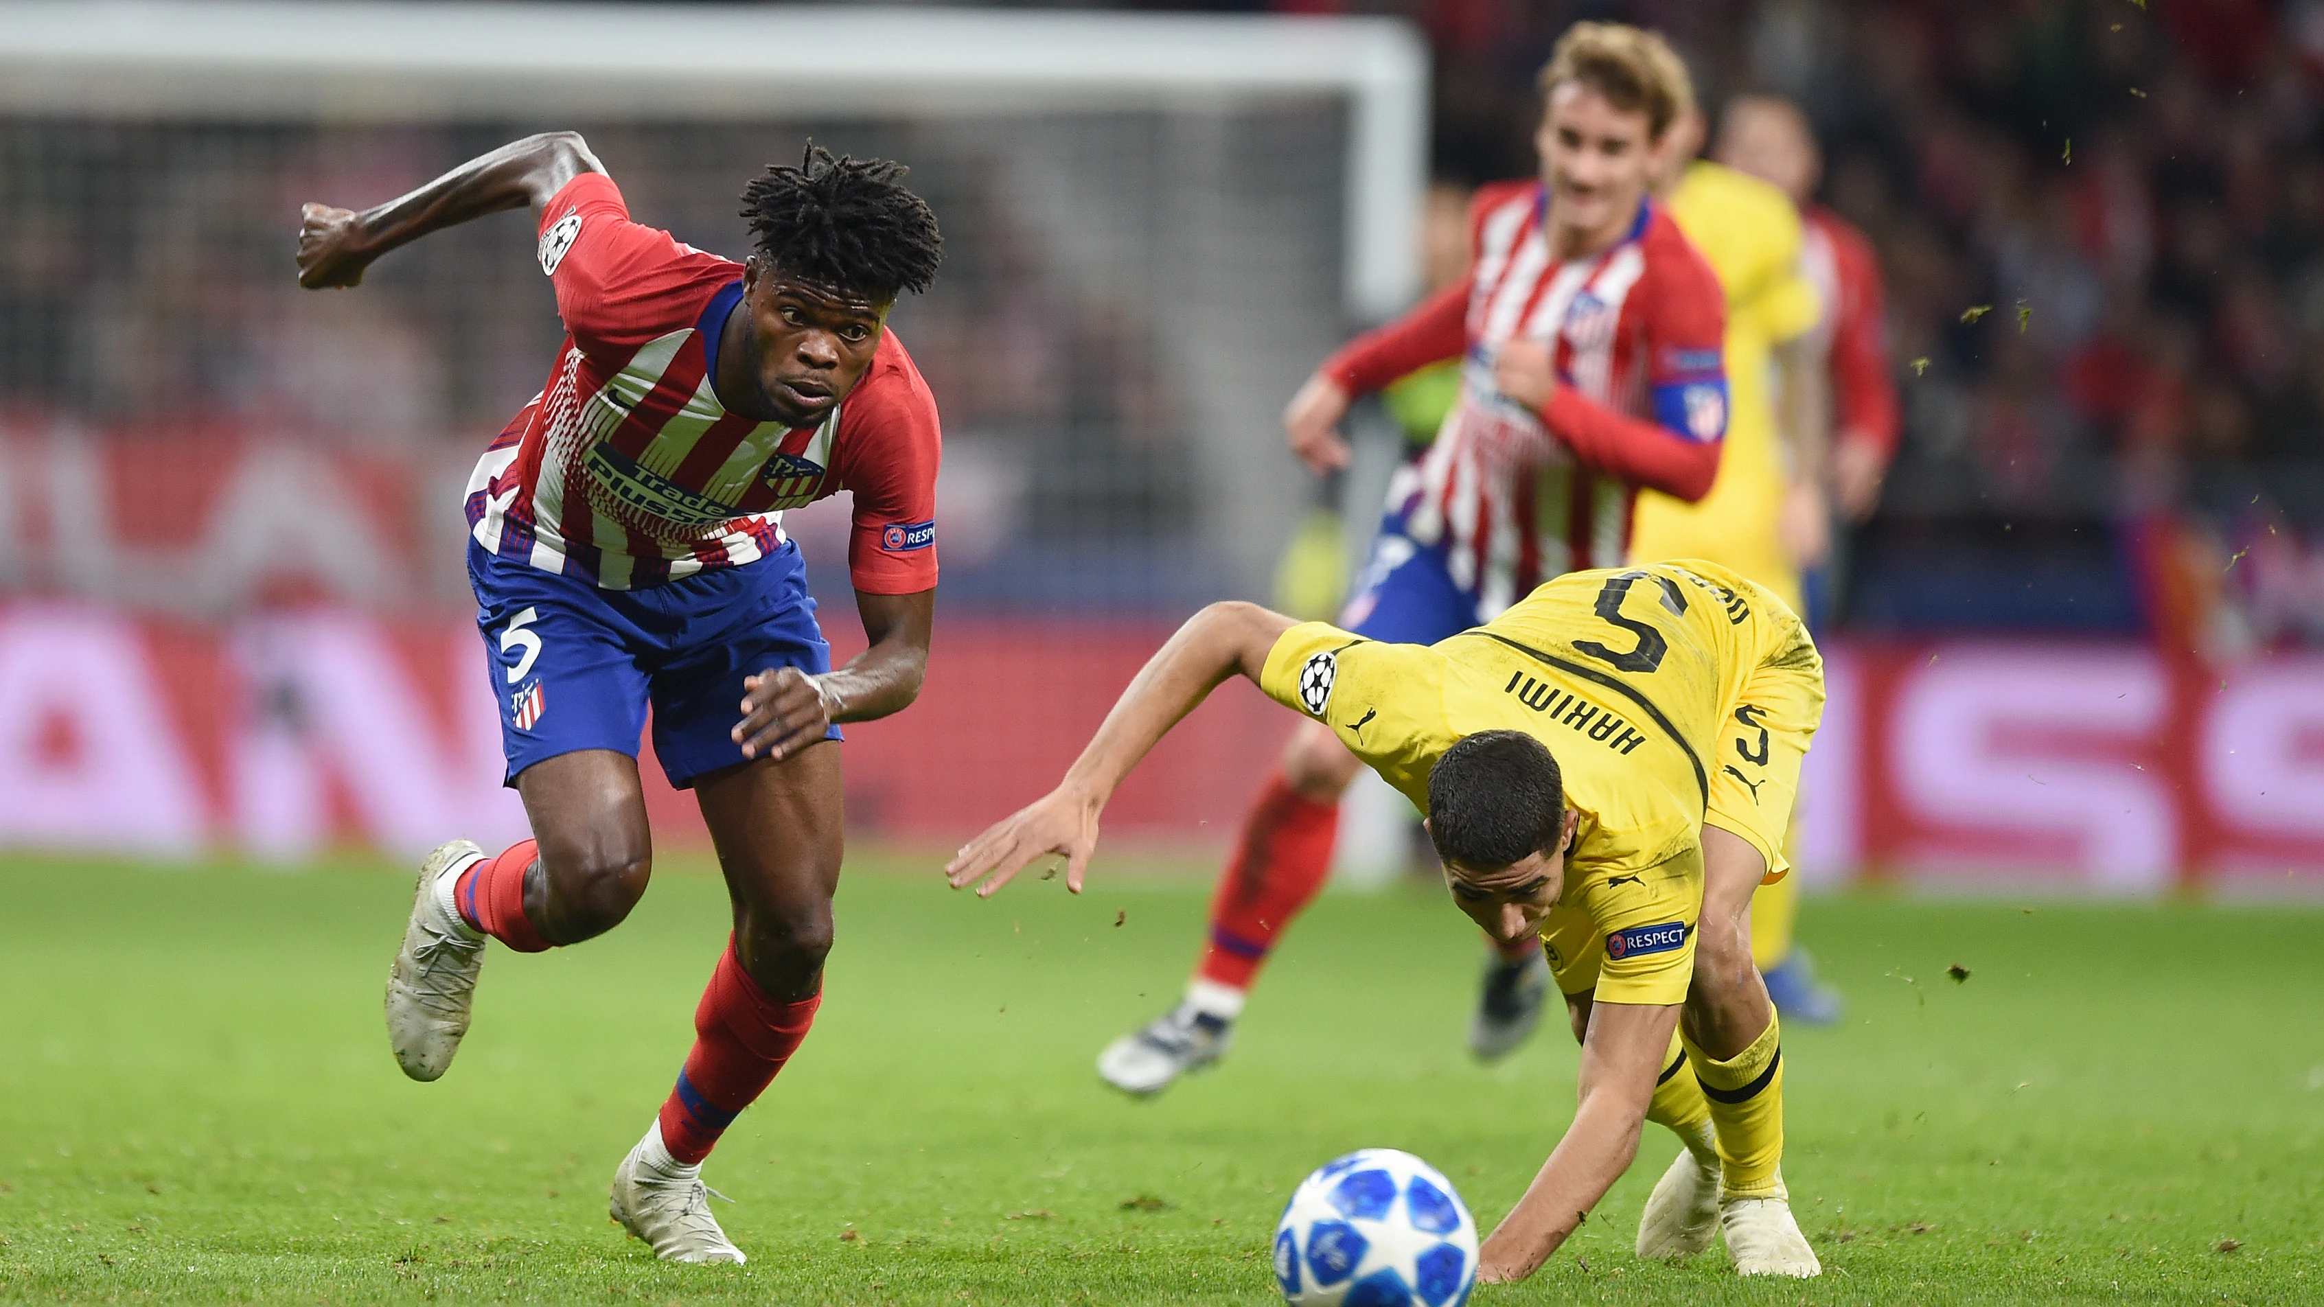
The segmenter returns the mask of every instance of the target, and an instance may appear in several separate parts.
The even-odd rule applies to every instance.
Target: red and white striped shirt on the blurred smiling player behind
[[[1629,551],[1638,486],[1701,498],[1727,435],[1727,302],[1717,277],[1659,205],[1585,258],[1550,258],[1538,181],[1485,186],[1469,209],[1469,277],[1325,363],[1350,393],[1464,358],[1462,395],[1436,442],[1390,484],[1387,507],[1492,621],[1559,572],[1613,567]],[[1552,349],[1545,409],[1504,395],[1511,340]]]

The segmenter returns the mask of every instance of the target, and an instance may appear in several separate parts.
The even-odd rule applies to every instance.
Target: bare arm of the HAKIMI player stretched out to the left
[[[1129,767],[1227,677],[1243,674],[1257,684],[1267,670],[1267,651],[1294,626],[1299,623],[1281,612],[1246,602],[1218,602],[1197,612],[1146,660],[1057,788],[962,844],[944,865],[944,879],[964,888],[990,874],[976,888],[985,898],[1025,870],[1025,863],[1064,854],[1064,888],[1081,893],[1090,851],[1097,849],[1097,814]],[[1648,1070],[1648,1088],[1655,1070]]]

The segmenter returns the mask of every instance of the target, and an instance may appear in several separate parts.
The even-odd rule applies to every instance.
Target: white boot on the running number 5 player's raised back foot
[[[451,1067],[467,1035],[467,1014],[483,970],[483,935],[460,921],[451,891],[460,872],[483,860],[469,840],[437,844],[421,863],[418,893],[404,947],[388,970],[388,1044],[411,1079],[435,1079]]]

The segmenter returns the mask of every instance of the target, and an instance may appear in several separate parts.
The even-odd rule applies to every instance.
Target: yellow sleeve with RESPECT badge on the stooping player
[[[1636,874],[1597,872],[1550,909],[1541,954],[1559,993],[1604,1002],[1676,1005],[1694,979],[1703,912],[1701,847]]]

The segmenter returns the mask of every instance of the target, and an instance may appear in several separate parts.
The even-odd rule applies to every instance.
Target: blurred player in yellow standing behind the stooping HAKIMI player
[[[1799,209],[1759,177],[1694,158],[1701,112],[1671,130],[1685,135],[1671,144],[1659,191],[1727,291],[1727,456],[1699,502],[1638,495],[1631,558],[1708,558],[1806,612],[1801,570],[1827,549],[1829,509],[1827,386],[1815,356],[1824,307],[1801,263]],[[1801,1021],[1834,1021],[1838,995],[1815,984],[1792,944],[1796,916],[1796,881],[1764,884],[1752,900],[1752,958],[1776,1007]]]

